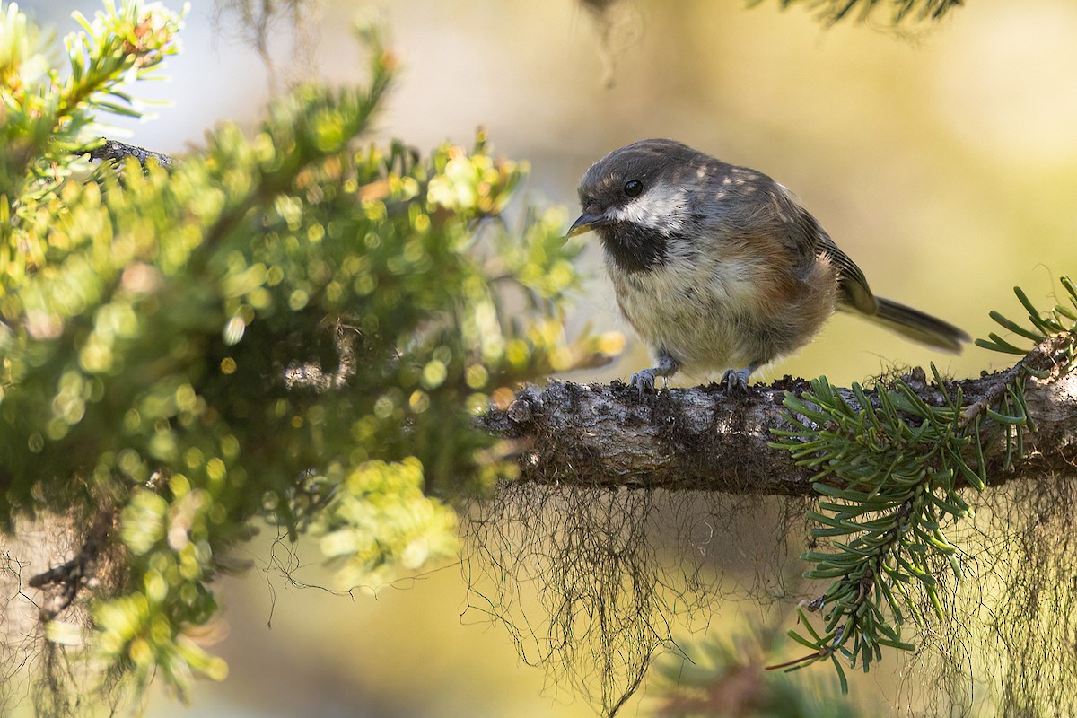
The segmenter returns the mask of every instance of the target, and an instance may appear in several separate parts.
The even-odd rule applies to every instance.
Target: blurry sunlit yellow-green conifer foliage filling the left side
[[[171,171],[80,181],[73,153],[130,111],[180,17],[107,4],[61,79],[2,16],[0,523],[115,512],[103,672],[222,677],[192,634],[258,523],[312,536],[349,583],[450,554],[445,499],[513,470],[467,410],[601,353],[561,330],[564,216],[499,216],[526,168],[481,137],[425,160],[358,144],[393,73],[367,31],[367,88],[302,87],[254,137],[226,125]]]

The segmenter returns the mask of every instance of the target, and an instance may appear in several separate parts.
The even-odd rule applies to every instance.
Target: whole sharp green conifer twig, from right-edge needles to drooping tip
[[[1034,428],[1024,399],[1024,381],[1074,366],[1077,347],[1077,288],[1062,279],[1071,306],[1040,314],[1024,293],[1031,328],[997,312],[1001,325],[1036,342],[1052,341],[1049,366],[1034,366],[1029,354],[1002,375],[990,396],[966,405],[961,388],[951,391],[932,366],[940,400],[928,405],[904,380],[865,391],[853,384],[844,393],[825,378],[811,382],[802,396],[786,394],[789,431],[772,446],[789,451],[798,465],[816,469],[813,488],[820,495],[808,518],[816,525],[805,576],[831,581],[815,601],[801,606],[803,632],[789,636],[811,649],[791,661],[802,667],[830,660],[842,684],[842,662],[857,662],[867,672],[883,657],[883,648],[912,650],[901,625],[922,623],[925,609],[943,617],[939,600],[942,572],[963,578],[957,549],[947,539],[948,526],[970,516],[965,488],[980,491],[988,482],[984,449],[1005,434],[1008,465],[1023,452],[1022,437]],[[977,343],[1001,352],[1021,353],[996,334]],[[816,629],[807,611],[822,615]]]

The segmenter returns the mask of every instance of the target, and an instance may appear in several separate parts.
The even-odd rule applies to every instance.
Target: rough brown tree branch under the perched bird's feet
[[[1077,375],[1059,366],[1058,340],[1038,344],[1017,366],[979,379],[947,382],[960,386],[969,411],[994,404],[1022,366],[1050,371],[1029,377],[1025,398],[1036,431],[1025,436],[1025,452],[1005,467],[1002,432],[984,450],[989,483],[1041,478],[1077,465]],[[926,404],[945,402],[923,369],[903,379]],[[770,430],[788,428],[785,392],[801,394],[803,379],[784,377],[757,384],[742,399],[717,384],[662,390],[642,398],[619,381],[610,385],[550,381],[527,385],[505,409],[479,419],[489,432],[512,439],[521,479],[544,483],[610,488],[661,488],[738,494],[807,495],[814,470],[797,466],[787,451],[771,449]],[[858,407],[849,390],[845,400]],[[867,392],[875,403],[878,393]]]

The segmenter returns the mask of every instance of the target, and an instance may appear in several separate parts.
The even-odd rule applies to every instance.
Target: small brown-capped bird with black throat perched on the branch
[[[835,309],[949,352],[968,335],[871,294],[864,272],[789,191],[673,140],[641,140],[595,163],[579,181],[621,313],[656,364],[640,392],[681,368],[726,369],[727,390],[808,343]]]

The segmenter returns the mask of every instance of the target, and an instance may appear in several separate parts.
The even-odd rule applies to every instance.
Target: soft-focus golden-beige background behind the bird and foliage
[[[75,27],[73,10],[98,8],[19,4],[60,37]],[[1077,247],[1077,4],[970,0],[941,25],[901,32],[827,29],[779,4],[624,0],[597,18],[573,0],[321,0],[300,28],[285,19],[270,31],[270,81],[244,42],[241,14],[196,1],[171,81],[144,97],[172,104],[117,138],[182,156],[222,122],[253,127],[275,83],[363,82],[351,27],[356,14],[376,12],[402,64],[376,137],[425,151],[444,140],[470,145],[482,126],[499,154],[530,160],[521,195],[565,206],[565,226],[592,161],[637,139],[671,137],[793,189],[882,296],[974,337],[995,328],[991,309],[1019,314],[1013,285],[1046,305],[1054,279],[1074,271]],[[578,380],[626,379],[647,366],[600,254],[592,245],[583,255],[592,280],[570,330],[620,329],[628,343],[617,364]],[[928,362],[975,376],[1001,358],[975,347],[933,353],[838,315],[761,378],[825,374],[848,384]],[[270,565],[269,539],[248,553]],[[311,583],[330,580],[318,566],[303,572]],[[149,714],[592,715],[523,665],[503,628],[462,620],[464,591],[459,566],[376,596],[300,589],[272,567],[227,579],[228,635],[216,650],[232,675],[200,684],[191,708],[157,696]],[[882,682],[858,690],[885,701],[893,687]],[[645,713],[646,701],[623,715]]]

